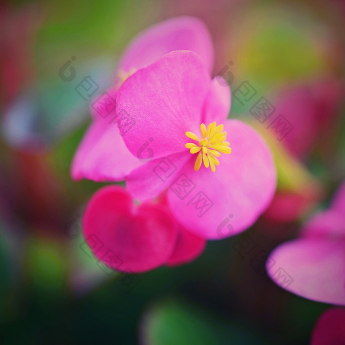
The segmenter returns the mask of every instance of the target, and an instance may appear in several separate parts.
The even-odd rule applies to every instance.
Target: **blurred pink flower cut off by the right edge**
[[[272,252],[266,269],[276,284],[296,295],[345,305],[345,182],[331,207],[314,215],[299,239]]]

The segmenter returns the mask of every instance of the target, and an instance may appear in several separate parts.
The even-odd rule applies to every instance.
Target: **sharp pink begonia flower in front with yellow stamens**
[[[266,142],[249,125],[227,119],[230,95],[190,51],[171,52],[139,69],[117,94],[117,114],[135,121],[124,141],[147,159],[127,176],[128,191],[144,201],[169,189],[173,215],[206,239],[248,228],[276,189]],[[120,118],[120,131],[125,126]]]

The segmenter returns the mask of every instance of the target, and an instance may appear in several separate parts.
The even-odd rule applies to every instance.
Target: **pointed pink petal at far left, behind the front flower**
[[[75,180],[122,181],[142,163],[126,147],[116,123],[97,119],[89,126],[71,164]]]

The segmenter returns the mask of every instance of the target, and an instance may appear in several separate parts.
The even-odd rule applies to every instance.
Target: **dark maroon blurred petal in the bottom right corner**
[[[323,312],[311,334],[311,345],[345,345],[345,309]]]

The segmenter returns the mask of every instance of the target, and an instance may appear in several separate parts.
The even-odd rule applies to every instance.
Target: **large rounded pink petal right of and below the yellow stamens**
[[[259,134],[237,120],[227,120],[224,130],[232,153],[221,154],[215,173],[204,166],[194,171],[194,155],[168,192],[177,220],[199,236],[214,240],[251,226],[276,189],[272,153]],[[181,185],[184,189],[178,193]]]

